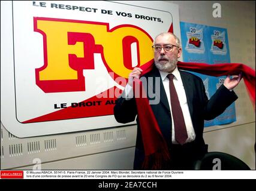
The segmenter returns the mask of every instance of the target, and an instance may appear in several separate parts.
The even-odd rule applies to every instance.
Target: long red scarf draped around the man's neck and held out
[[[153,60],[144,64],[140,68],[143,70],[141,75],[153,69]],[[255,70],[244,64],[227,63],[227,64],[206,64],[206,63],[187,63],[178,61],[177,67],[182,70],[190,70],[192,72],[203,73],[210,76],[238,75],[242,72],[243,80],[251,98],[255,109]],[[139,85],[143,90],[142,82],[134,79],[135,86]],[[134,90],[135,92],[135,90]],[[143,168],[146,170],[159,170],[162,166],[169,162],[167,143],[162,136],[158,123],[153,115],[153,111],[149,105],[149,100],[143,96],[135,98],[137,111],[140,122],[140,130],[144,145],[145,159]]]

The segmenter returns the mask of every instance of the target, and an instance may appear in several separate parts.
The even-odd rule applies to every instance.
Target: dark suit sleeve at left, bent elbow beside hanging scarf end
[[[116,121],[125,124],[135,120],[137,115],[137,107],[135,103],[135,98],[130,100],[125,100],[124,92],[121,97],[116,100],[116,105],[114,107],[114,116]]]

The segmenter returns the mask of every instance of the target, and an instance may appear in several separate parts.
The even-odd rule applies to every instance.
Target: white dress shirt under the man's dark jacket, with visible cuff
[[[162,84],[164,85],[164,90],[165,90],[165,93],[166,93],[166,96],[168,99],[169,107],[171,109],[169,79],[167,77],[168,73],[162,72],[162,71],[159,71],[159,72],[161,75]],[[180,77],[180,73],[179,73],[179,70],[177,69],[177,67],[176,67],[176,69],[174,69],[172,74],[174,75],[173,84],[176,89],[177,96],[179,98],[180,107],[182,109],[182,113],[183,113],[183,117],[184,117],[184,121],[185,121],[185,125],[186,125],[186,132],[188,133],[188,138],[186,139],[185,143],[189,143],[189,142],[195,140],[195,131],[194,131],[194,128],[192,125],[192,120],[191,120],[191,116],[190,116],[189,109],[188,109],[188,102],[186,100],[185,89],[183,87],[182,79]],[[129,84],[127,84],[127,86],[125,87],[125,99],[129,100],[132,98],[132,96],[133,96],[132,87]],[[171,124],[171,127],[172,127],[171,141],[174,144],[178,144],[177,141],[175,140],[172,112],[171,112],[171,123],[172,123]]]

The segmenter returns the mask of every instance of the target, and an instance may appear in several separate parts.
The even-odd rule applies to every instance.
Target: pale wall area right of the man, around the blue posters
[[[231,63],[255,69],[255,1],[168,1],[179,5],[180,21],[226,28]],[[212,5],[221,4],[221,18],[212,16]],[[205,128],[209,151],[230,153],[255,169],[255,112],[241,82],[234,90],[237,121]]]

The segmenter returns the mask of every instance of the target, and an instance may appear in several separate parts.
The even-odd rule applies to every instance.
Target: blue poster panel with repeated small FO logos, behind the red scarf
[[[197,63],[230,63],[227,29],[206,26],[201,24],[180,22],[181,39],[183,47],[183,61]],[[214,77],[192,72],[199,76],[210,98],[226,76]],[[234,103],[215,119],[204,121],[204,127],[229,124],[236,121]]]

